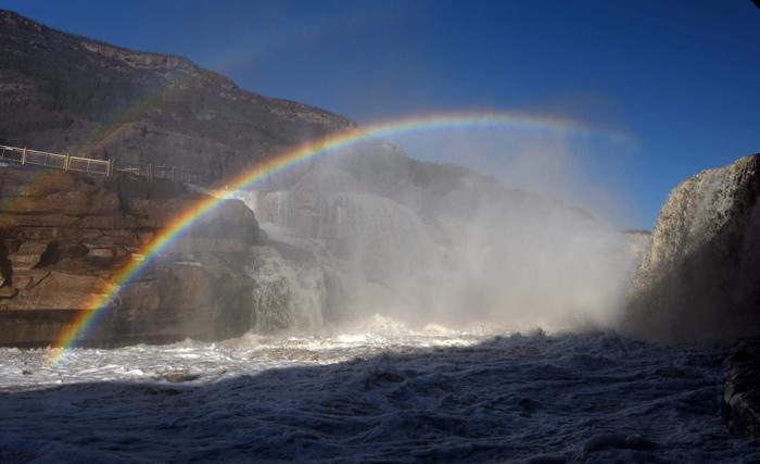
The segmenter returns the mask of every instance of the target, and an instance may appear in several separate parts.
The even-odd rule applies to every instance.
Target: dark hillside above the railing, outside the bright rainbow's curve
[[[0,143],[175,165],[208,184],[353,125],[242,90],[183,58],[122,49],[0,10]]]

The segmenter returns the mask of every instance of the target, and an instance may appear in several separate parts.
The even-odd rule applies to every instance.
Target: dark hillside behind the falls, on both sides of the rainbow
[[[0,143],[166,164],[212,185],[350,127],[356,124],[345,117],[249,92],[185,58],[127,50],[0,10]],[[350,151],[362,155],[302,164],[268,188],[359,191],[466,214],[483,198],[524,200],[493,178],[409,159],[381,140]]]

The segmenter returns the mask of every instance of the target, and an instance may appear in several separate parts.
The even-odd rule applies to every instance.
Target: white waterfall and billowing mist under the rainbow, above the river
[[[322,318],[330,313],[337,319],[382,314],[512,329],[608,323],[635,264],[622,234],[537,198],[484,201],[466,217],[357,192],[251,191],[240,198],[274,242],[307,251],[321,281],[328,275],[332,283],[317,286],[328,294],[299,300],[283,297],[304,291],[297,278],[277,280],[256,300],[268,304],[262,311],[282,315],[257,329],[291,326],[293,314],[314,311],[296,309],[304,300],[321,301]],[[302,272],[291,268],[303,260],[286,261],[275,267]]]

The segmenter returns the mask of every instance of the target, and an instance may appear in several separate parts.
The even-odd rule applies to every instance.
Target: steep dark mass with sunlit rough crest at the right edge
[[[679,185],[636,273],[625,328],[668,340],[760,335],[760,155]]]

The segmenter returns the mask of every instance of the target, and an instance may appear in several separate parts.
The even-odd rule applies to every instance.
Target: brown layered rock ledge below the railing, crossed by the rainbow
[[[0,170],[0,343],[52,343],[174,217],[203,200],[170,183]],[[230,200],[117,290],[81,341],[221,338],[250,326],[256,220]]]

